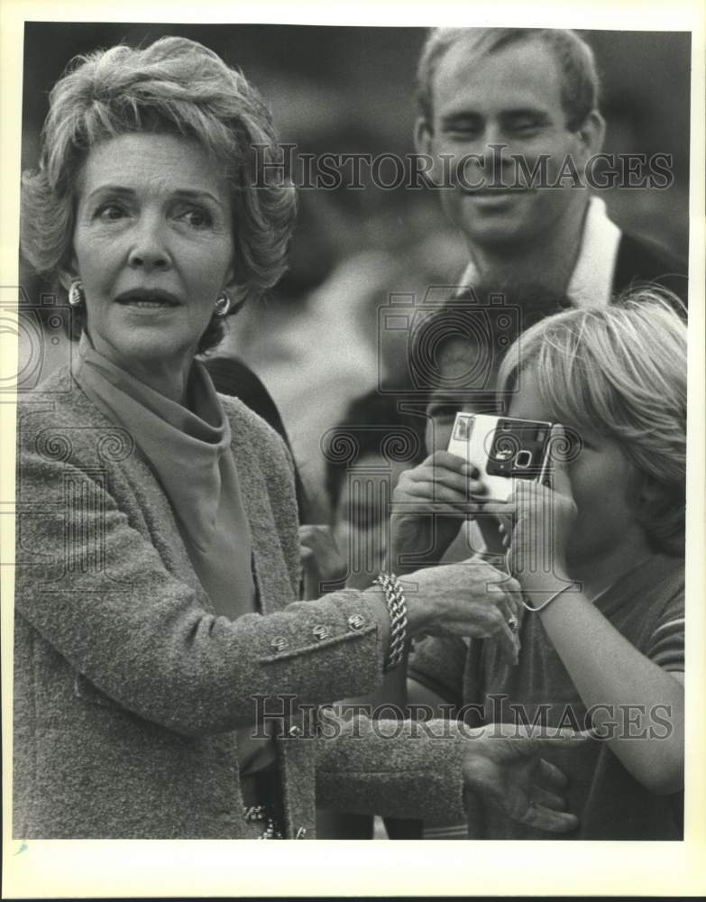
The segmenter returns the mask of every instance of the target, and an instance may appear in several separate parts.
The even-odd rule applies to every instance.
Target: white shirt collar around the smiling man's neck
[[[579,255],[566,290],[576,307],[604,306],[610,302],[620,235],[619,227],[608,217],[605,202],[592,197],[583,221]],[[478,268],[471,261],[463,271],[461,283],[473,285],[477,281]]]

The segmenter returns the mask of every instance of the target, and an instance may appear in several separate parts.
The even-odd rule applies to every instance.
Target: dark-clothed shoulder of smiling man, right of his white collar
[[[674,253],[643,235],[623,232],[613,274],[613,293],[638,285],[657,284],[688,301],[688,264]]]

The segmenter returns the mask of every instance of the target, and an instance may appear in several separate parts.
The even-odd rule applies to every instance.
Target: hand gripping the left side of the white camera
[[[433,563],[444,556],[458,535],[463,520],[478,510],[485,486],[478,471],[463,457],[436,451],[423,463],[406,470],[392,494],[390,515],[390,569],[408,573],[400,555],[426,555]]]

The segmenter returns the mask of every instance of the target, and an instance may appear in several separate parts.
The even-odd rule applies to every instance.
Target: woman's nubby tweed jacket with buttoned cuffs
[[[316,805],[463,813],[459,735],[415,740],[407,723],[386,739],[364,718],[320,728],[318,705],[380,682],[377,621],[353,590],[296,601],[289,454],[242,402],[221,401],[261,608],[235,621],[215,615],[132,437],[69,368],[21,400],[17,838],[242,836],[234,731],[258,706],[277,736],[288,837],[315,836]]]

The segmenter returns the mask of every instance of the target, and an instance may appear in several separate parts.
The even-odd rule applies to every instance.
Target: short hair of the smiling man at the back
[[[435,28],[426,38],[417,67],[417,105],[430,127],[436,69],[459,41],[467,41],[469,56],[479,60],[520,41],[541,41],[554,54],[561,72],[566,127],[575,131],[598,106],[599,78],[593,51],[576,32],[561,28]]]

